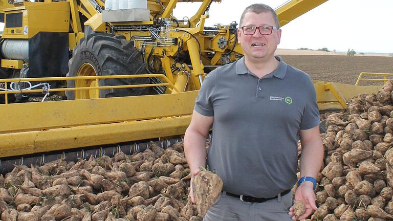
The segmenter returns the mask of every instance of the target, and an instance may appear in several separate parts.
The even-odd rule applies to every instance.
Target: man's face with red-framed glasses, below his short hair
[[[270,12],[256,14],[247,12],[243,18],[244,26],[274,26],[275,21]],[[243,30],[237,30],[238,42],[241,44],[244,55],[250,59],[268,60],[274,57],[277,45],[280,43],[281,30],[273,29],[270,35],[262,35],[259,30],[255,30],[253,35],[245,35]]]

